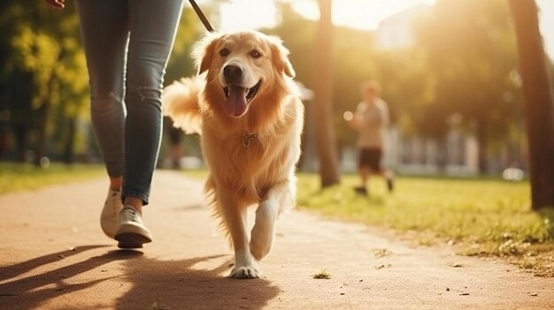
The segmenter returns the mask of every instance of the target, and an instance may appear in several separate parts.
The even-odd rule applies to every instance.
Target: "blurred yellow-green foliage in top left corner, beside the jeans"
[[[19,22],[14,23],[14,20]],[[33,102],[38,109],[43,102],[64,104],[66,97],[86,95],[88,79],[81,49],[79,25],[74,11],[52,11],[42,2],[33,5],[12,2],[0,16],[0,25],[12,24],[2,40],[10,47],[2,73],[10,75],[14,70],[29,72],[33,76]],[[5,43],[5,42],[4,42]],[[55,80],[56,91],[50,89]],[[62,100],[63,98],[63,100]],[[73,98],[71,98],[73,99]],[[72,102],[66,108],[70,115],[77,115]]]

